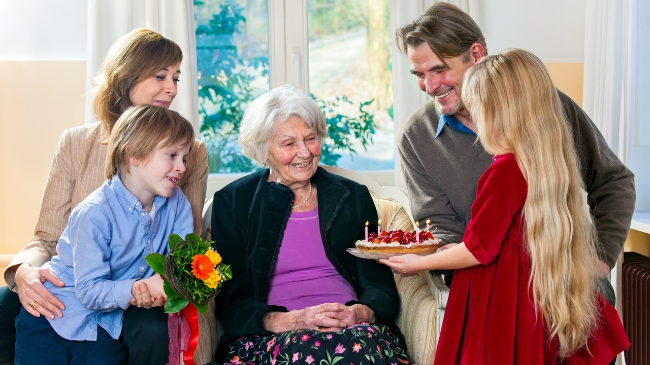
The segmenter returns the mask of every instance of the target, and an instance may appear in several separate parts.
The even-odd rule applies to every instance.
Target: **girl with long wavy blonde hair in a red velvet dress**
[[[380,260],[402,275],[457,269],[434,364],[608,364],[629,341],[593,286],[595,229],[551,77],[506,49],[467,71],[461,95],[495,155],[463,242]]]

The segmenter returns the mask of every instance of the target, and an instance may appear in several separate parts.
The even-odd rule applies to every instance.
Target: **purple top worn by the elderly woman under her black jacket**
[[[266,303],[288,310],[356,300],[357,295],[325,255],[318,207],[291,212]]]

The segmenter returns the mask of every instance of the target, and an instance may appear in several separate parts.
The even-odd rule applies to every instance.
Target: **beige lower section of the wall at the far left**
[[[86,62],[0,61],[0,265],[34,235],[61,133],[84,120]]]

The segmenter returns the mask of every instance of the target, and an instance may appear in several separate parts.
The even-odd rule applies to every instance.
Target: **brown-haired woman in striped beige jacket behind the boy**
[[[104,181],[107,138],[122,112],[132,105],[159,105],[169,108],[177,94],[183,53],[171,39],[148,29],[125,34],[107,53],[94,84],[93,114],[97,123],[64,131],[45,186],[35,236],[10,262],[5,271],[8,286],[0,288],[0,322],[8,331],[22,305],[32,316],[64,315],[64,306],[43,286],[49,281],[63,286],[49,270],[40,266],[55,255],[70,211]],[[194,231],[201,232],[201,211],[207,184],[207,150],[194,140],[187,159],[187,171],[178,181],[187,195]],[[144,257],[142,258],[144,260]],[[73,283],[65,283],[73,284]],[[14,290],[14,292],[11,292]],[[135,304],[124,314],[122,341],[129,364],[165,364],[168,360],[164,299],[149,296],[146,285],[136,288]],[[144,310],[144,308],[153,308]],[[14,336],[0,343],[1,362],[12,362]]]

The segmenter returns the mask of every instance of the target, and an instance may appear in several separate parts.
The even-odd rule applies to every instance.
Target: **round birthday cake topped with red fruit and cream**
[[[440,245],[440,239],[431,233],[399,231],[382,231],[379,235],[370,233],[367,240],[356,242],[357,250],[371,253],[434,253]]]

